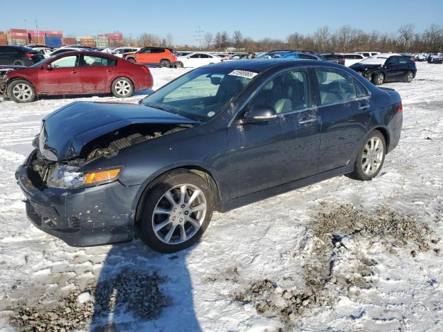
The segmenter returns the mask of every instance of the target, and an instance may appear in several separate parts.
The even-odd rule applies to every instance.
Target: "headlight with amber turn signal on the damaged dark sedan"
[[[46,185],[53,188],[82,188],[111,183],[118,179],[123,167],[80,172],[78,167],[62,165],[49,174]]]

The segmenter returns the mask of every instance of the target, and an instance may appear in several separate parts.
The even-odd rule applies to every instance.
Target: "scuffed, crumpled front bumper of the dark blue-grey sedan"
[[[84,189],[37,188],[28,176],[29,161],[15,174],[26,196],[26,214],[31,223],[69,246],[84,247],[132,241],[134,215],[131,210],[138,185],[120,182]]]

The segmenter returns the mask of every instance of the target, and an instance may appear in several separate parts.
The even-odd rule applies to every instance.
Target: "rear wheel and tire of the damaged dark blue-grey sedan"
[[[356,180],[372,180],[372,178],[379,174],[385,161],[385,155],[385,137],[380,131],[374,130],[365,139],[363,147],[361,147],[359,154],[355,158],[354,172],[347,175]]]

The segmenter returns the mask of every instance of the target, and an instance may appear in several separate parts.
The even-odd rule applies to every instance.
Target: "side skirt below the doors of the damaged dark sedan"
[[[228,212],[236,208],[240,208],[244,205],[255,203],[257,201],[262,201],[262,199],[268,199],[269,197],[283,194],[284,192],[290,192],[291,190],[296,190],[301,187],[306,187],[307,185],[312,185],[320,181],[325,181],[328,178],[334,178],[343,174],[351,173],[354,170],[354,163],[348,163],[343,167],[338,167],[327,172],[320,174],[315,174],[313,176],[308,176],[307,178],[300,178],[300,180],[292,181],[289,183],[284,183],[283,185],[278,185],[271,187],[260,192],[253,192],[246,196],[238,197],[237,199],[231,199],[221,206],[221,212]]]

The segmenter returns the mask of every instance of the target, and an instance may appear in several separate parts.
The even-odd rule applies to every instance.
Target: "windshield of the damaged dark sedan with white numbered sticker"
[[[235,98],[257,72],[198,68],[143,99],[145,106],[206,122]]]

